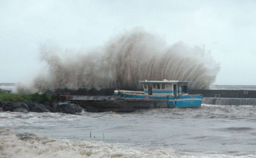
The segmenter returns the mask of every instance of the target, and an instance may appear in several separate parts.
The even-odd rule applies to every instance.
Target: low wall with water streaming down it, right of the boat
[[[256,98],[203,98],[202,103],[221,106],[256,106]]]

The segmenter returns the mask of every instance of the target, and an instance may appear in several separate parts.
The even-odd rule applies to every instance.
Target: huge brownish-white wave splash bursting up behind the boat
[[[62,55],[60,55],[62,52]],[[220,70],[203,47],[179,42],[166,45],[159,35],[134,29],[95,50],[65,50],[41,46],[46,73],[33,80],[46,89],[140,89],[139,80],[193,81],[191,89],[209,89]]]

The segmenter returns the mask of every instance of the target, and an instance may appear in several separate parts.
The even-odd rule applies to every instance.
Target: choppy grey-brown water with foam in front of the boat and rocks
[[[256,106],[0,113],[0,157],[256,157]]]

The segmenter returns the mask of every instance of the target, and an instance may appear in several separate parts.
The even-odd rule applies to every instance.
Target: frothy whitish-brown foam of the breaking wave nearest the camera
[[[228,154],[179,152],[171,148],[139,148],[100,141],[50,139],[33,134],[17,134],[0,128],[0,157],[235,157]],[[240,157],[255,157],[242,155]]]

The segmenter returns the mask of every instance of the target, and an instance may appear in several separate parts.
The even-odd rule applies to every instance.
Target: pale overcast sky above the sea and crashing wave
[[[0,0],[0,83],[33,78],[39,47],[98,47],[134,27],[210,51],[215,84],[256,83],[256,1]]]

